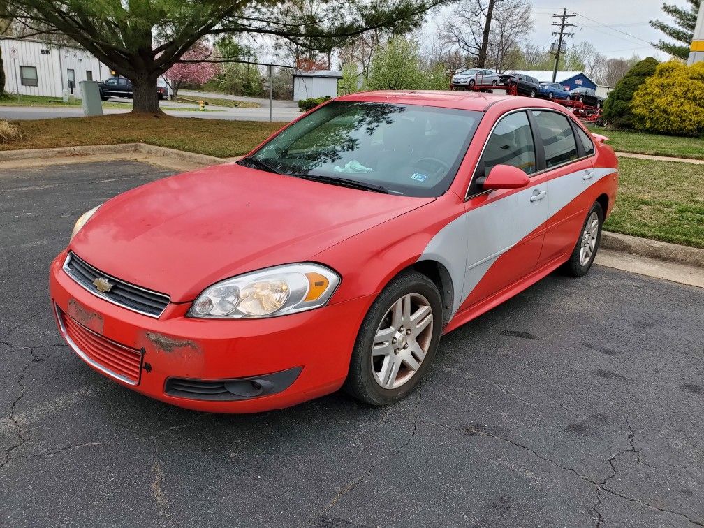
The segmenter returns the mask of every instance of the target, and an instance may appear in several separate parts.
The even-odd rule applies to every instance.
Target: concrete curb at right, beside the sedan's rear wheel
[[[657,240],[641,239],[631,237],[628,234],[612,233],[603,231],[601,233],[601,247],[622,251],[665,262],[674,262],[696,268],[704,268],[704,249],[680,246],[679,244],[669,244]]]

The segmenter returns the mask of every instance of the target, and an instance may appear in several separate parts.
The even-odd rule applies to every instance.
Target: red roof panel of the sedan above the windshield
[[[439,108],[457,108],[459,110],[486,111],[489,106],[501,105],[501,108],[534,108],[544,106],[553,108],[554,103],[528,97],[482,92],[451,92],[422,90],[383,90],[377,92],[357,92],[340,96],[335,101],[367,101],[372,103],[415,104],[437,106]]]

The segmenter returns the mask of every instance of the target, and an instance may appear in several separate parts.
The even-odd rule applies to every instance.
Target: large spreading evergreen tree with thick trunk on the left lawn
[[[272,35],[327,49],[370,29],[419,25],[430,8],[446,1],[323,0],[318,4],[327,9],[304,17],[289,9],[289,0],[6,0],[0,18],[73,39],[132,81],[133,112],[158,114],[158,77],[203,37]]]

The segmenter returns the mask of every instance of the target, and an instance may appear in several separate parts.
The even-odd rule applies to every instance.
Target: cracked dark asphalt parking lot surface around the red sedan
[[[704,290],[594,267],[451,332],[390,408],[167,406],[70,351],[47,273],[84,210],[168,175],[0,168],[0,524],[704,525]],[[187,251],[187,249],[182,249]]]

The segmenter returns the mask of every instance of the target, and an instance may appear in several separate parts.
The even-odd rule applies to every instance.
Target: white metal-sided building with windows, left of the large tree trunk
[[[0,39],[5,91],[12,94],[80,98],[80,81],[102,81],[110,68],[84,49],[34,39]]]

